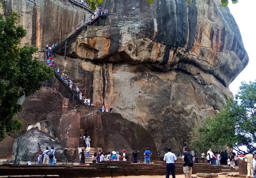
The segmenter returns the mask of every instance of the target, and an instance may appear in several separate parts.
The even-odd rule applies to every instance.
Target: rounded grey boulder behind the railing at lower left
[[[13,147],[14,154],[16,154],[16,146],[17,143],[15,142]],[[59,152],[54,155],[65,156],[63,148],[56,140],[39,129],[30,129],[20,136],[17,155],[38,156],[39,152],[44,152],[46,147],[50,150],[52,146],[54,147],[54,150]]]

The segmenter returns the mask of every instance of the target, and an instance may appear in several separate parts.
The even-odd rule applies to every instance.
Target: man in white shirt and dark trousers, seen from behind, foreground
[[[174,162],[177,162],[176,156],[171,152],[172,148],[167,148],[168,152],[165,154],[163,160],[166,162],[166,178],[169,178],[170,171],[172,172],[173,178],[175,178],[175,166]]]

